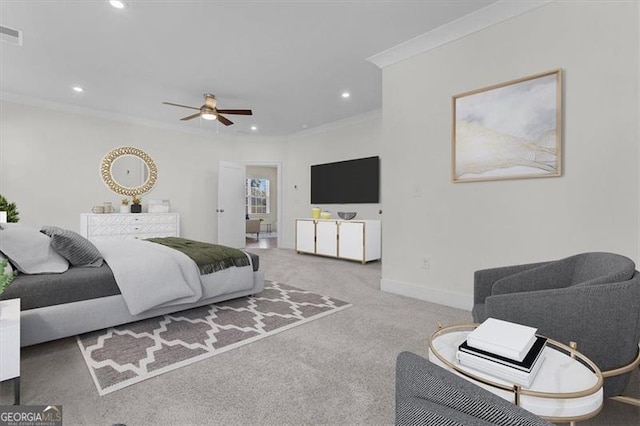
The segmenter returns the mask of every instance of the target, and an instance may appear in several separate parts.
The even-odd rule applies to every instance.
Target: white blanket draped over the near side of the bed
[[[198,266],[187,255],[149,241],[94,242],[113,271],[132,315],[202,298]]]

